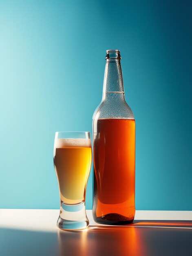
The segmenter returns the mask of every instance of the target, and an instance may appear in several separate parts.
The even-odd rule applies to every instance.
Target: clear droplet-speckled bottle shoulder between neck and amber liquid
[[[135,119],[134,114],[125,99],[118,101],[105,99],[102,101],[93,114],[93,120],[101,118]]]

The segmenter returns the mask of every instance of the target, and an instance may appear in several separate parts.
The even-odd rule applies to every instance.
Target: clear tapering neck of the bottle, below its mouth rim
[[[113,99],[114,96],[125,99],[123,74],[120,59],[108,58],[105,66],[102,101]]]

